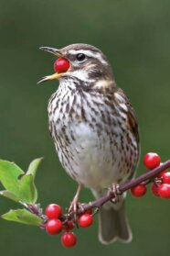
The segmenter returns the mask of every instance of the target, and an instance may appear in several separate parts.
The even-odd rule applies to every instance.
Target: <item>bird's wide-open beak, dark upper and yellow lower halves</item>
[[[62,54],[61,52],[58,50],[58,49],[55,49],[55,48],[51,48],[51,47],[40,47],[39,48],[40,50],[46,50],[52,54],[54,54],[55,56],[57,57],[62,57]],[[43,82],[46,82],[48,80],[55,80],[55,79],[59,79],[60,77],[62,76],[62,72],[61,73],[53,73],[51,75],[47,75],[45,77],[43,77],[39,82],[37,83],[43,83]]]

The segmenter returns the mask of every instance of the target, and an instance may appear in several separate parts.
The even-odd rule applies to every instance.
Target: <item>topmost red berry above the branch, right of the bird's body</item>
[[[160,165],[161,158],[156,153],[147,153],[143,158],[143,164],[146,168],[153,170]]]

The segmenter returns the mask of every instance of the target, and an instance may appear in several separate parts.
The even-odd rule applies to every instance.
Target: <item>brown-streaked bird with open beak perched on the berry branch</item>
[[[115,82],[102,51],[83,43],[61,49],[41,47],[69,61],[69,69],[43,78],[58,79],[58,90],[48,101],[48,125],[58,158],[78,184],[95,198],[106,195],[112,184],[133,179],[140,155],[139,128],[133,106]],[[103,244],[130,242],[132,231],[125,211],[125,195],[99,211],[99,239]]]

